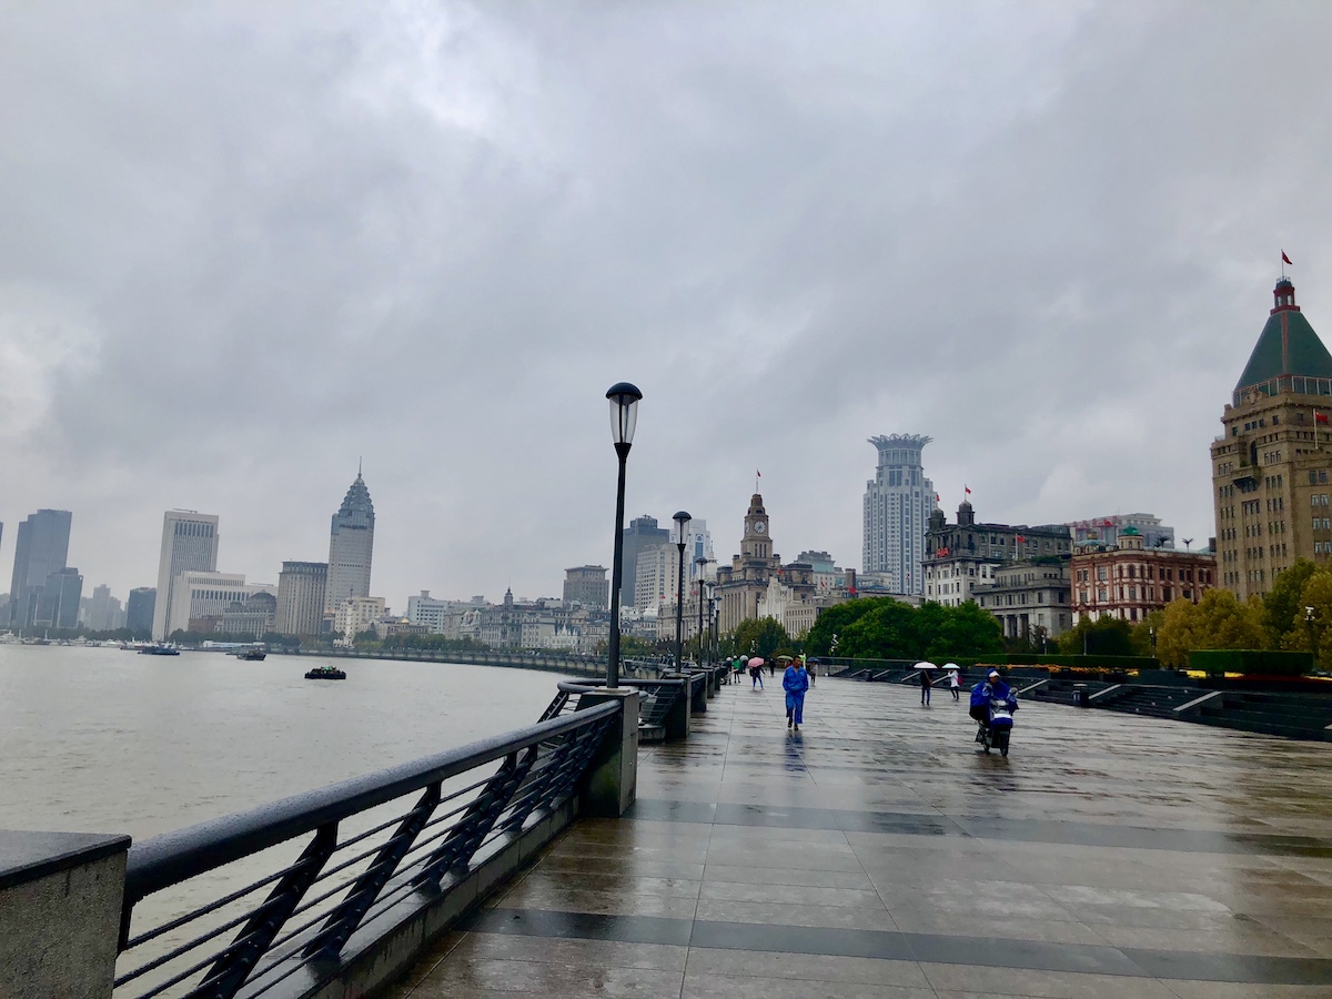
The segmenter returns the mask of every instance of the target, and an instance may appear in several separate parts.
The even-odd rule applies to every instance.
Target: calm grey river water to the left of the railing
[[[136,840],[533,725],[554,673],[0,645],[0,829]]]

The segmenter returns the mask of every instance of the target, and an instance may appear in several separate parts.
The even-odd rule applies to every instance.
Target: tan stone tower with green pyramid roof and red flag
[[[1219,583],[1264,595],[1297,558],[1332,555],[1332,354],[1281,278],[1212,441]]]

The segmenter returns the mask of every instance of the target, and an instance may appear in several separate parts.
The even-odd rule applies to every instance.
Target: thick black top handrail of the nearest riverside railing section
[[[562,686],[562,685],[561,685]],[[201,822],[153,836],[129,850],[125,871],[125,906],[188,878],[194,878],[313,832],[321,826],[384,805],[430,783],[502,759],[619,711],[617,702],[595,705],[526,729],[460,746],[432,757],[354,777],[316,791],[282,798],[250,811]]]

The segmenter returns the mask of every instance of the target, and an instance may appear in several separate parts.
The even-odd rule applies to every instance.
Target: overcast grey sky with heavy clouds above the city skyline
[[[1208,442],[1284,248],[1332,334],[1332,7],[0,3],[0,587],[73,510],[85,593],[328,557],[558,594],[627,514],[860,563],[866,438],[954,517],[1146,510]]]

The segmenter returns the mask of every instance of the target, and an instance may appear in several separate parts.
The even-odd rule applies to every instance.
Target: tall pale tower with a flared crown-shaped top
[[[894,593],[924,591],[924,534],[935,509],[934,484],[924,477],[920,452],[931,437],[871,437],[879,450],[874,478],[864,484],[864,547],[860,569],[878,573]]]

